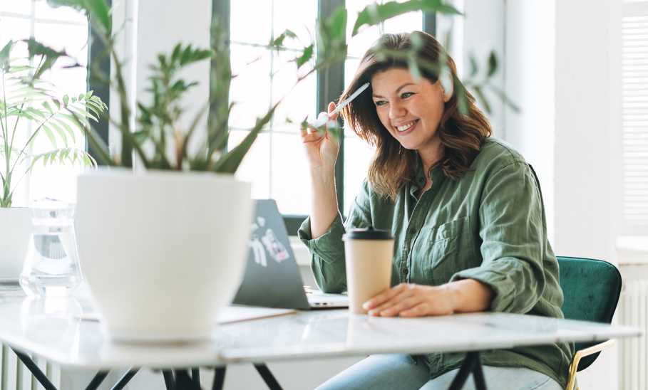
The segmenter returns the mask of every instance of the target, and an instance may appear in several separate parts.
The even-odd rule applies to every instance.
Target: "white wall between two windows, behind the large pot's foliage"
[[[128,85],[131,110],[135,101],[150,103],[148,77],[150,65],[157,63],[158,53],[168,55],[176,43],[195,48],[210,47],[210,24],[212,1],[154,1],[154,0],[115,0],[113,1],[113,25],[118,32],[118,50],[125,60],[123,64],[125,80]],[[199,84],[187,93],[182,106],[186,109],[180,121],[188,126],[198,108],[209,99],[209,68],[208,60],[190,65],[181,73],[187,81],[197,81]],[[113,70],[115,66],[111,68]],[[115,91],[110,94],[110,115],[118,118],[118,95]],[[134,121],[134,117],[133,117]],[[202,126],[207,123],[207,116],[202,120]],[[201,125],[199,125],[201,126]],[[195,145],[205,137],[204,132],[196,132],[196,137],[190,146]],[[120,135],[114,126],[110,129],[110,148],[118,150]],[[169,145],[169,154],[173,155],[173,145]]]

